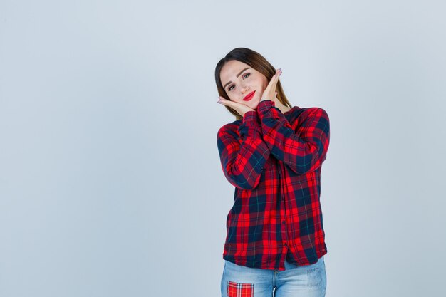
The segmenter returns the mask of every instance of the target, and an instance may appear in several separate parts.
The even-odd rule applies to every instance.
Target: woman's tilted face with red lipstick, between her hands
[[[251,66],[231,60],[220,71],[220,80],[229,100],[256,109],[264,93],[268,80]]]

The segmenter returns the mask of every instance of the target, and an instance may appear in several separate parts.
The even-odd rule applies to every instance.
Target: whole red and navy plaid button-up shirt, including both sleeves
[[[286,257],[301,266],[327,253],[319,198],[329,140],[325,110],[281,113],[272,100],[219,129],[222,169],[235,187],[224,259],[285,270]]]

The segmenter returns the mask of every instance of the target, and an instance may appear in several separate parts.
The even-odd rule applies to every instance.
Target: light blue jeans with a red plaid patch
[[[222,297],[325,296],[323,256],[315,264],[296,266],[285,260],[285,270],[239,266],[224,260]]]

